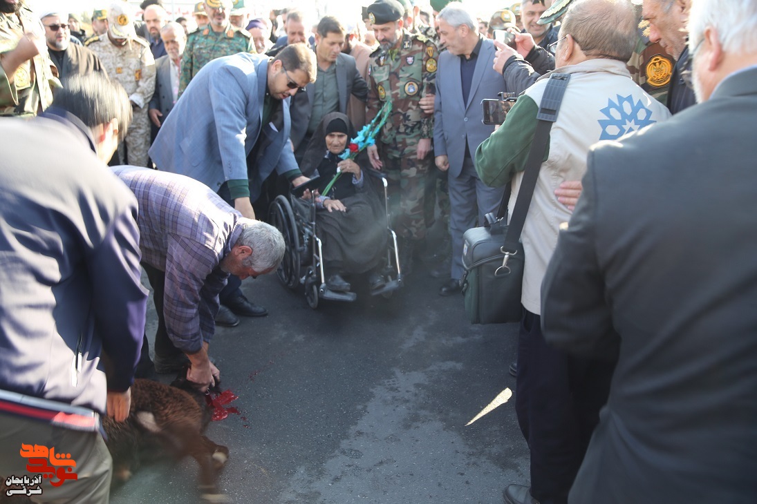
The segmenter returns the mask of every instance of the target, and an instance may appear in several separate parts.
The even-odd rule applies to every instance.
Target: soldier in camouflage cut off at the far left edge
[[[39,18],[23,2],[0,0],[0,116],[45,110],[60,86],[53,68]]]

